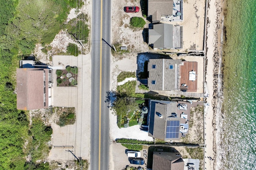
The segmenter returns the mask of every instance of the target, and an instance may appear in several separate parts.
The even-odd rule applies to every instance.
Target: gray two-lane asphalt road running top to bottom
[[[92,1],[92,101],[90,170],[109,167],[109,109],[104,102],[110,90],[111,0]],[[86,93],[84,94],[86,95]]]

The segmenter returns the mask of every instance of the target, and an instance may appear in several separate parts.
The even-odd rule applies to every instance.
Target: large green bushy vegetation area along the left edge
[[[41,120],[34,120],[40,127],[32,120],[29,130],[27,112],[16,109],[16,68],[21,55],[31,54],[35,43],[44,45],[54,39],[76,0],[1,0],[0,6],[0,169],[43,169],[34,161],[47,154],[45,142],[51,129]],[[25,164],[28,153],[29,165]]]

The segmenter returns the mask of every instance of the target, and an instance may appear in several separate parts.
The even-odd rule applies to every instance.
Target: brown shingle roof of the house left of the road
[[[17,109],[48,108],[48,69],[17,68]],[[45,96],[44,106],[44,72]]]

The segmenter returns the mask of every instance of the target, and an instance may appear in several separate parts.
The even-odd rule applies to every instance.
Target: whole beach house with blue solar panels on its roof
[[[148,135],[164,141],[180,140],[188,133],[190,107],[188,102],[150,100]]]

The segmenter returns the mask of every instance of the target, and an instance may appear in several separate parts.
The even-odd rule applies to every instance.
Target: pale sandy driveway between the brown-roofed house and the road
[[[53,103],[56,106],[66,106],[76,108],[76,121],[74,125],[60,127],[52,124],[52,145],[70,145],[74,148],[68,148],[76,156],[90,160],[90,55],[74,56],[54,56],[54,66],[77,66],[78,67],[78,85],[77,87],[57,87],[53,88]],[[56,81],[56,80],[55,80]],[[56,94],[57,93],[57,94]],[[86,95],[84,95],[86,93]],[[67,161],[75,159],[74,156],[63,148],[52,148],[48,156],[49,160]]]

